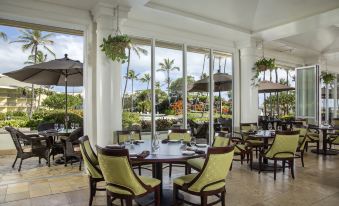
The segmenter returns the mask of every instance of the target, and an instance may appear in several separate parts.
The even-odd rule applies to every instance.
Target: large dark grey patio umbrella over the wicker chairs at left
[[[83,85],[83,64],[80,61],[69,59],[65,54],[62,59],[26,66],[4,75],[31,84],[65,86],[65,126],[67,128],[67,87]]]

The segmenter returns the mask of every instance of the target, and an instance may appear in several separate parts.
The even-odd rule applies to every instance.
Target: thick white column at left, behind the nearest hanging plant
[[[113,35],[113,5],[102,4],[93,9],[96,22],[96,134],[97,144],[113,143],[113,132],[122,128],[120,95],[121,63],[113,62],[101,51],[103,38]]]

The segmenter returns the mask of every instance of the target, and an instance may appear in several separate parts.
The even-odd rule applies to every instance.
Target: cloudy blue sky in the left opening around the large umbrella
[[[20,35],[20,28],[1,26],[0,31],[7,34],[7,42],[0,39],[0,73],[14,71],[27,66],[24,64],[30,55],[30,50],[22,51],[21,43],[10,43],[17,39]],[[43,32],[46,34],[46,32]],[[54,41],[54,45],[48,46],[56,54],[56,58],[63,58],[68,54],[70,59],[75,59],[83,62],[83,37],[67,34],[54,33],[50,38]],[[42,51],[46,53],[43,49]],[[52,60],[54,57],[47,54],[47,60]],[[64,87],[54,87],[54,90],[63,92]],[[70,87],[69,92],[81,92],[82,87]]]

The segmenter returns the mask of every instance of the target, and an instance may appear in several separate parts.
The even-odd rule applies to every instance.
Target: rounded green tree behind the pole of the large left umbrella
[[[78,108],[82,105],[82,97],[80,95],[67,95],[68,108]],[[65,94],[52,94],[43,100],[42,106],[50,109],[64,109],[66,105]]]

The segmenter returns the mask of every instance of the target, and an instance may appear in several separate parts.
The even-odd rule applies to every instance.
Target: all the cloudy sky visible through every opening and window
[[[20,35],[20,28],[1,26],[0,31],[5,32],[8,36],[8,41],[0,40],[0,73],[5,73],[9,71],[14,71],[17,69],[21,69],[26,66],[24,64],[27,61],[27,57],[30,55],[30,51],[22,51],[22,44],[20,43],[9,43],[17,39]],[[46,34],[46,32],[44,32]],[[83,44],[84,39],[82,36],[75,35],[67,35],[54,33],[54,35],[50,38],[54,41],[54,44],[49,46],[51,50],[56,54],[56,58],[63,58],[64,54],[68,54],[68,57],[71,59],[79,60],[83,62]],[[140,45],[139,45],[140,46]],[[141,78],[146,73],[151,73],[151,47],[150,46],[140,46],[141,48],[147,51],[147,55],[141,54],[140,57],[137,56],[136,53],[131,53],[131,65],[130,68],[133,69],[136,74],[139,74],[139,78]],[[46,52],[45,52],[46,53]],[[47,59],[52,60],[54,57],[47,53]],[[179,67],[179,71],[175,70],[170,73],[171,80],[175,80],[179,77],[182,77],[182,51],[167,49],[156,47],[155,48],[155,65],[156,69],[159,69],[159,63],[163,62],[165,58],[169,58],[170,60],[174,60],[174,65]],[[195,80],[199,80],[204,63],[204,54],[187,52],[187,74],[193,76]],[[225,66],[226,63],[226,67]],[[232,58],[227,57],[226,62],[225,58],[222,58],[220,61],[220,68],[222,72],[225,72],[232,75]],[[122,65],[121,70],[121,93],[123,93],[123,89],[125,86],[125,78],[127,69],[127,63]],[[219,69],[219,59],[216,58],[214,62],[214,73],[216,73]],[[208,59],[205,59],[204,65],[204,73],[208,74]],[[291,76],[294,75],[291,72]],[[266,76],[269,76],[267,73]],[[290,79],[292,79],[290,76]],[[286,72],[284,70],[278,69],[278,79],[285,78]],[[156,71],[155,79],[160,82],[161,88],[164,91],[167,91],[167,84],[165,83],[166,73],[161,71]],[[272,73],[272,81],[275,81],[275,74]],[[294,86],[294,82],[292,83]],[[142,83],[141,81],[134,81],[134,91],[143,90],[147,88],[146,83]],[[64,87],[54,87],[56,91],[64,92]],[[70,87],[70,92],[82,92],[82,87]],[[127,83],[127,93],[132,92],[132,84],[131,80]],[[222,92],[222,97],[228,99],[227,92]],[[263,95],[259,95],[259,104],[263,102]]]

